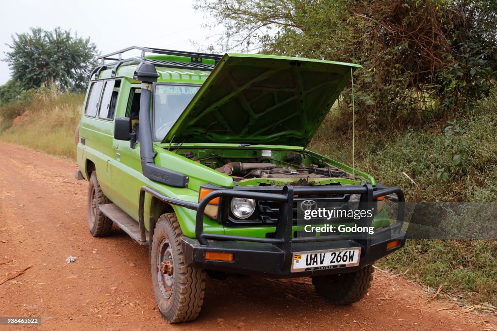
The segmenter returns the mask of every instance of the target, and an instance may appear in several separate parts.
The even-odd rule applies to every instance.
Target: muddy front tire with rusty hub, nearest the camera
[[[185,266],[181,236],[174,213],[159,217],[152,241],[152,285],[159,311],[169,323],[196,319],[204,301],[205,271]]]

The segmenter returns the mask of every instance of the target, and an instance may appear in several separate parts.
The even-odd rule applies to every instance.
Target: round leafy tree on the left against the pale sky
[[[5,52],[12,80],[23,89],[55,83],[61,90],[82,90],[90,70],[96,66],[97,48],[89,38],[55,28],[31,28],[15,34]]]

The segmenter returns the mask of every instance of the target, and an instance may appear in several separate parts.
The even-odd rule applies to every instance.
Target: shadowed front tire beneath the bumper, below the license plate
[[[373,266],[349,273],[312,277],[316,291],[334,305],[349,305],[361,300],[371,287]]]

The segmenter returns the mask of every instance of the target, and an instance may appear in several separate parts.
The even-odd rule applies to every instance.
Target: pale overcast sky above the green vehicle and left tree
[[[215,42],[221,26],[202,27],[204,13],[192,8],[193,0],[14,0],[1,1],[0,59],[5,58],[11,35],[30,27],[78,32],[90,37],[101,54],[137,45],[181,51],[197,51]],[[208,39],[210,38],[210,39]],[[0,85],[10,77],[7,63],[0,62]]]

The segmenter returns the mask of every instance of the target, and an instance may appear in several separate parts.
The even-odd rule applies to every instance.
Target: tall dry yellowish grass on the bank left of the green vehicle
[[[10,127],[12,119],[2,120],[0,140],[76,160],[74,132],[83,99],[83,94],[61,94],[54,88],[33,93],[19,125]]]

